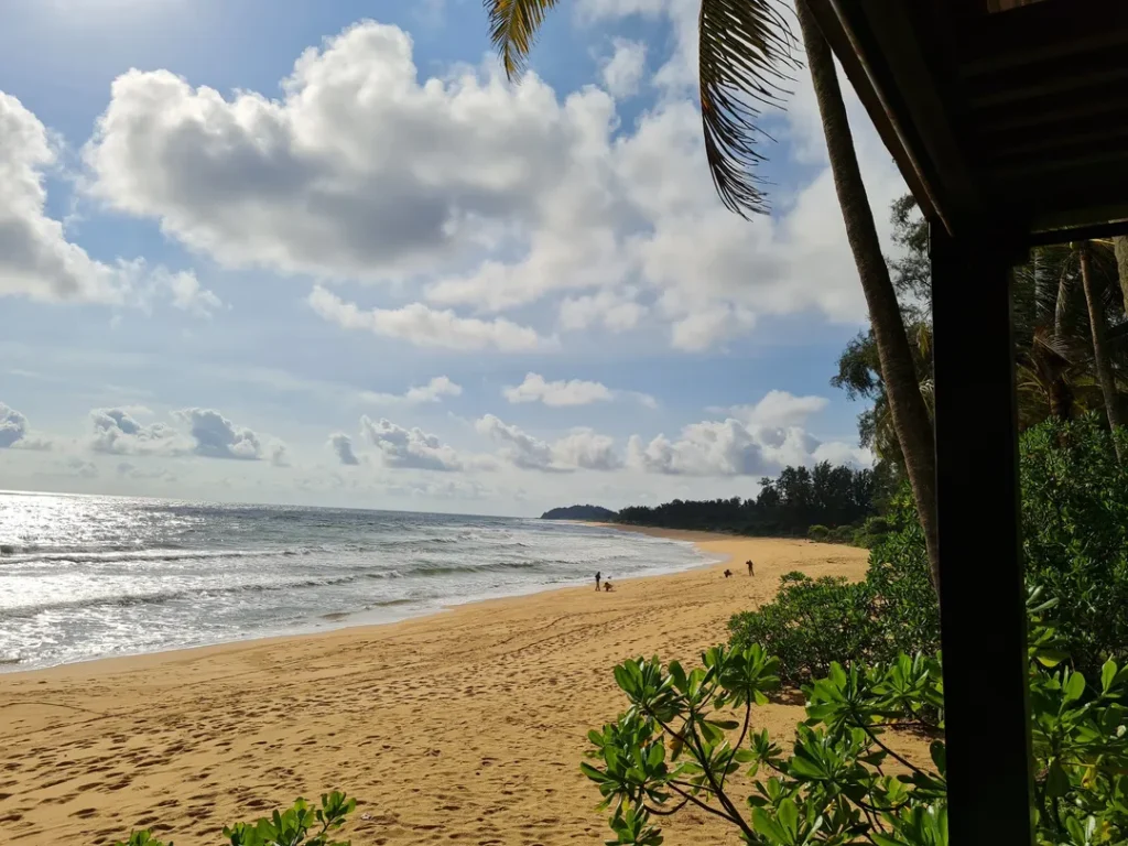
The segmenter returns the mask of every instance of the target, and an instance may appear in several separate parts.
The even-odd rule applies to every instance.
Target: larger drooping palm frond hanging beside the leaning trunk
[[[502,0],[497,0],[502,2]],[[799,67],[782,0],[702,0],[700,102],[705,155],[722,202],[747,217],[766,212],[759,144],[764,107],[778,107]]]

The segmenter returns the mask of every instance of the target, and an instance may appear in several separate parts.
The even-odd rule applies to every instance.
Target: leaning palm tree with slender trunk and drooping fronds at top
[[[505,72],[520,73],[545,15],[558,0],[486,0],[491,38]],[[935,446],[897,294],[881,254],[862,182],[854,139],[830,47],[807,6],[796,11],[822,117],[830,169],[854,254],[907,475],[928,546],[933,584],[940,585]],[[757,166],[760,108],[778,106],[782,83],[797,62],[795,37],[782,0],[702,0],[698,16],[699,96],[705,153],[722,202],[741,215],[767,211]]]

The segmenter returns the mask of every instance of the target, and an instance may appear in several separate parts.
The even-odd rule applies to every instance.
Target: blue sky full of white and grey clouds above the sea
[[[728,212],[696,0],[562,3],[519,82],[479,0],[0,16],[0,490],[529,515],[872,461],[809,80]]]

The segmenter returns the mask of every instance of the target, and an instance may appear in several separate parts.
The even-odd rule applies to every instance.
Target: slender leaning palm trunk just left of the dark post
[[[881,252],[873,211],[862,182],[854,138],[846,117],[838,72],[822,32],[807,6],[796,3],[807,62],[814,83],[814,96],[822,117],[830,170],[846,223],[846,237],[870,308],[870,323],[878,345],[881,376],[885,382],[889,411],[905,456],[905,468],[916,496],[920,525],[928,547],[933,587],[940,590],[940,557],[936,530],[936,453],[932,423],[917,385],[913,352],[905,334],[897,292],[889,279],[889,267]]]

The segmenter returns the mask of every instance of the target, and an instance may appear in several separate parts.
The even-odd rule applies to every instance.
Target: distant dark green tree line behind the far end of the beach
[[[888,496],[881,473],[832,467],[785,467],[760,481],[755,499],[673,500],[661,505],[631,505],[617,522],[664,529],[731,531],[738,535],[800,535],[812,526],[855,526],[879,512]]]

